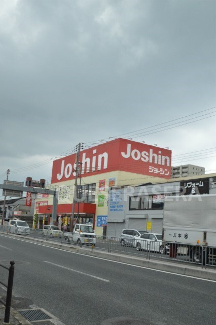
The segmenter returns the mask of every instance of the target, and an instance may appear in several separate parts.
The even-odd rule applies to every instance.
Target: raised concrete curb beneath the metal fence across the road
[[[12,237],[19,237],[18,235],[9,235],[3,232],[0,232],[2,234],[5,234],[6,236],[12,236]],[[26,241],[35,241],[41,245],[49,246],[53,248],[58,248],[64,251],[73,252],[73,253],[79,253],[84,254],[87,256],[93,256],[93,257],[100,257],[104,258],[106,260],[131,264],[131,265],[137,265],[137,266],[143,266],[149,269],[154,270],[161,270],[164,272],[170,272],[170,273],[176,273],[191,277],[197,277],[200,279],[206,279],[206,280],[213,280],[216,281],[216,270],[206,270],[203,268],[199,268],[198,266],[186,266],[180,265],[179,263],[172,263],[172,262],[166,262],[166,261],[156,261],[156,260],[149,260],[146,258],[139,258],[135,256],[130,255],[124,255],[124,254],[117,254],[117,253],[108,253],[104,251],[97,251],[93,249],[86,249],[86,248],[80,248],[80,247],[74,247],[68,244],[62,244],[54,241],[49,240],[42,240],[32,237],[24,237],[22,240]]]

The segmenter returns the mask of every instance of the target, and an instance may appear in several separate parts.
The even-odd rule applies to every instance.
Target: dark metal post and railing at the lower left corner
[[[7,288],[6,302],[1,299],[1,302],[5,305],[5,318],[4,322],[9,323],[10,320],[10,307],[12,299],[12,289],[13,289],[13,280],[14,280],[14,261],[10,261],[10,267],[0,264],[1,267],[9,271],[7,285],[0,281],[0,283]]]

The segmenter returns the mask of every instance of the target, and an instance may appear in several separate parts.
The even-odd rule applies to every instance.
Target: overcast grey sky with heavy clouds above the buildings
[[[190,114],[125,136],[216,171],[215,18],[215,0],[0,0],[0,181],[50,180],[78,142]]]

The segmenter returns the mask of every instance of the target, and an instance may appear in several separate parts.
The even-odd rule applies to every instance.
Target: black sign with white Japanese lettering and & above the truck
[[[209,177],[187,179],[186,181],[181,181],[180,186],[182,195],[209,194]]]

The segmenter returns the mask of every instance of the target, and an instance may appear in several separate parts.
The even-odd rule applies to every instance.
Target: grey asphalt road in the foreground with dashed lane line
[[[13,293],[30,299],[66,325],[100,325],[115,317],[141,318],[157,325],[215,325],[213,281],[70,253],[4,235],[0,235],[0,249],[1,264],[10,260],[16,263]],[[0,276],[5,280],[2,270]]]

